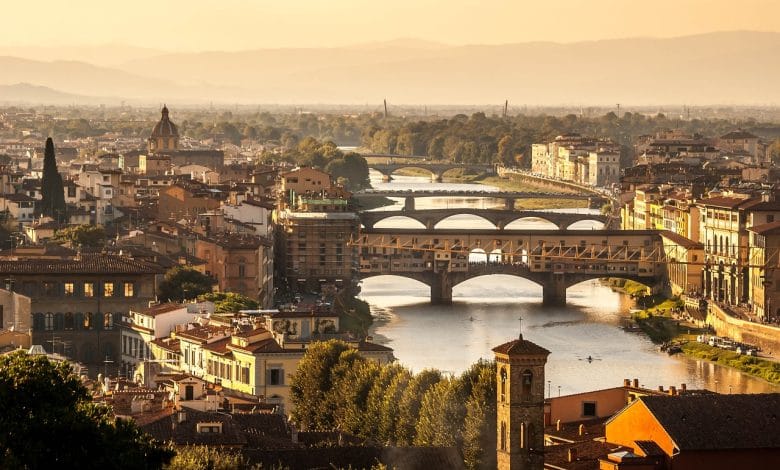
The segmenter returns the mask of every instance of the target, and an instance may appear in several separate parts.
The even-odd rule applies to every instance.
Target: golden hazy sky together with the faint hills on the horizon
[[[771,1],[87,0],[6,10],[15,18],[0,31],[6,103],[780,102]]]

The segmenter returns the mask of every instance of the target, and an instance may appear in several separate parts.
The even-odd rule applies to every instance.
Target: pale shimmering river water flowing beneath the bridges
[[[424,177],[396,177],[382,183],[372,172],[377,189],[483,189],[483,185],[430,183]],[[497,189],[497,188],[493,188]],[[444,207],[502,207],[502,202],[478,198],[421,198],[417,209]],[[395,206],[377,210],[398,210]],[[564,209],[565,210],[565,209]],[[573,209],[587,211],[587,209]],[[416,227],[410,219],[393,218],[377,227]],[[440,228],[492,228],[474,216],[442,221]],[[507,228],[554,228],[540,219],[524,219]],[[581,222],[573,228],[599,228]],[[481,255],[485,256],[485,255]],[[503,275],[484,276],[457,285],[453,304],[430,305],[424,284],[396,276],[378,276],[362,282],[361,297],[375,316],[374,341],[392,347],[399,362],[414,371],[437,368],[458,374],[491,349],[523,337],[550,350],[546,369],[548,393],[571,394],[620,386],[623,379],[639,379],[650,388],[686,384],[689,389],[719,392],[778,392],[768,382],[728,367],[658,351],[641,333],[620,328],[633,307],[630,299],[598,281],[567,291],[565,307],[542,307],[542,288],[531,281]],[[588,360],[590,357],[592,360]]]

